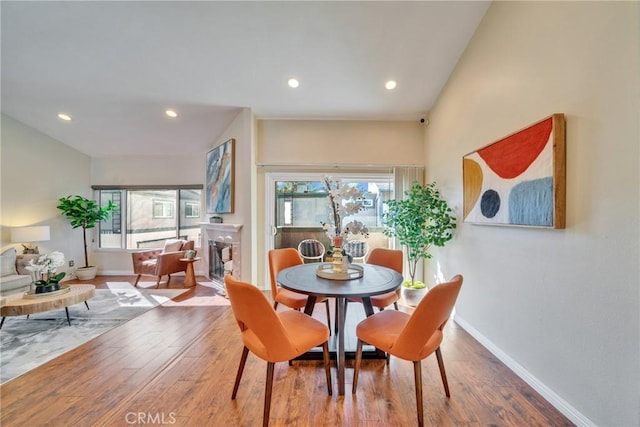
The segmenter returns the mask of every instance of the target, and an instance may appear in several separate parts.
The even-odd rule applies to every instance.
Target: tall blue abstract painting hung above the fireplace
[[[207,213],[233,213],[234,143],[230,139],[207,153]]]

